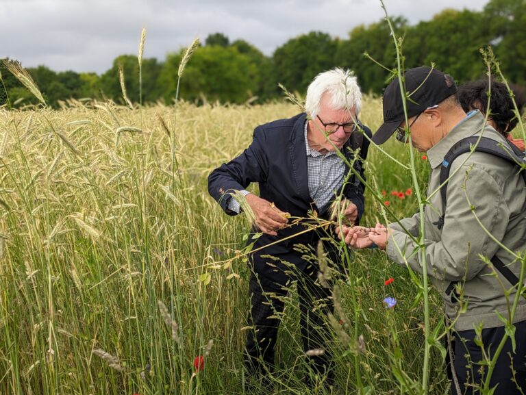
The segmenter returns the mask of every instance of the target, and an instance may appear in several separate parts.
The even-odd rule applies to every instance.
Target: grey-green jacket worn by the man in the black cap
[[[526,251],[525,181],[517,174],[516,167],[488,153],[464,153],[453,162],[447,184],[444,225],[442,229],[434,225],[442,215],[438,186],[444,155],[460,139],[481,134],[505,142],[497,131],[485,125],[484,116],[477,111],[469,114],[427,151],[431,175],[427,190],[429,205],[425,206],[424,212],[425,255],[423,250],[415,251],[416,244],[398,223],[389,225],[393,231],[386,249],[390,259],[407,264],[419,273],[423,271],[425,257],[427,275],[442,292],[449,318],[459,315],[458,296],[455,294],[460,290],[467,310],[455,323],[458,331],[473,329],[479,323],[484,328],[503,326],[497,311],[508,318],[508,303],[503,290],[510,289],[511,285],[502,275],[495,275],[492,265],[486,263],[489,261],[484,262],[481,257],[491,259],[497,254],[504,264],[514,262],[514,259],[493,238],[510,251]],[[418,240],[420,214],[404,218],[401,223]],[[508,267],[519,277],[520,262]],[[447,294],[445,291],[451,282],[458,283],[461,288]],[[510,296],[510,308],[515,296],[515,292]],[[514,322],[526,320],[526,299],[519,297]]]

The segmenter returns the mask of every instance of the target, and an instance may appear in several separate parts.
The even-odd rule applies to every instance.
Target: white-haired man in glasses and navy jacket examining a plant
[[[351,169],[337,151],[364,177],[368,138],[363,133],[371,136],[371,131],[358,120],[361,105],[362,94],[350,71],[334,68],[321,73],[308,87],[305,113],[256,127],[250,146],[208,177],[210,194],[229,215],[241,211],[232,192],[245,195],[255,214],[252,234],[262,233],[259,238],[249,238],[249,243],[254,243],[249,259],[251,330],[247,331],[246,344],[246,367],[251,377],[264,378],[273,370],[283,296],[291,281],[297,281],[303,347],[305,351],[318,351],[310,356],[313,374],[307,381],[312,383],[318,375],[325,384],[332,383],[323,323],[324,315],[332,310],[329,290],[316,281],[316,259],[305,259],[305,253],[295,249],[303,244],[316,251],[323,235],[316,231],[301,233],[307,229],[304,222],[291,224],[288,218],[305,218],[310,212],[329,218],[331,203],[340,196],[347,203],[345,216],[358,224],[364,212],[364,186],[349,174]],[[355,152],[360,154],[353,161]],[[260,196],[245,190],[253,182],[259,183]],[[337,254],[331,251],[334,247],[325,244],[331,260],[340,265]],[[315,308],[316,301],[321,301],[323,308]]]

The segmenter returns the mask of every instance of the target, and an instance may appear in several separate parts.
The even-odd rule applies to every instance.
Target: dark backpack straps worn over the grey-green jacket
[[[470,152],[472,149],[474,151],[489,153],[490,155],[494,155],[497,157],[502,158],[503,160],[506,160],[518,167],[521,167],[519,171],[521,172],[521,175],[523,176],[525,182],[526,182],[526,171],[522,171],[523,164],[526,164],[526,155],[523,151],[518,149],[514,144],[508,142],[506,140],[506,145],[504,146],[503,143],[497,142],[496,140],[492,140],[487,137],[477,137],[477,136],[471,136],[467,138],[463,138],[462,140],[458,141],[455,145],[451,147],[451,149],[447,152],[447,154],[444,156],[444,160],[442,161],[442,167],[440,168],[440,185],[442,183],[442,188],[440,188],[440,196],[442,196],[442,216],[438,219],[438,221],[433,222],[433,225],[436,225],[438,229],[442,229],[444,226],[444,216],[446,213],[446,203],[447,203],[447,182],[446,180],[449,178],[449,172],[451,170],[451,164],[453,161],[463,153]],[[514,287],[518,285],[518,277],[514,275],[512,270],[508,268],[508,266],[505,266],[505,264],[497,257],[497,255],[494,255],[491,259],[491,262],[493,266],[507,279],[510,284],[512,284]],[[450,283],[449,287],[446,290],[446,294],[451,294],[453,292],[455,283]],[[526,298],[526,295],[523,295]]]

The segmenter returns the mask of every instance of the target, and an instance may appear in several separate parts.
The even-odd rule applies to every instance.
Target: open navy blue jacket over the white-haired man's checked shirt
[[[208,192],[227,214],[236,214],[227,208],[228,200],[231,199],[228,193],[232,190],[244,190],[252,182],[259,183],[260,197],[274,202],[278,209],[290,213],[292,217],[305,217],[310,211],[318,213],[318,207],[310,198],[308,185],[305,120],[306,114],[303,113],[256,127],[250,146],[234,160],[222,164],[210,173]],[[371,130],[363,125],[362,128],[371,137]],[[365,160],[368,145],[369,141],[361,133],[355,132],[343,146],[342,152],[352,161],[353,153],[350,148],[361,146],[360,157]],[[362,160],[355,161],[354,167],[364,177]],[[353,175],[343,188],[343,195],[358,207],[358,223],[364,212],[364,185]],[[326,218],[326,213],[318,214],[321,218]],[[304,229],[305,225],[301,225],[300,222],[298,225],[280,229],[277,236],[264,234],[255,240],[253,249]],[[253,229],[253,232],[255,231],[257,230]],[[308,266],[308,262],[302,259],[302,254],[294,251],[292,247],[295,244],[316,247],[319,239],[319,233],[310,231],[255,252],[251,255],[253,269],[260,275],[284,284],[288,279],[289,270],[305,270]]]

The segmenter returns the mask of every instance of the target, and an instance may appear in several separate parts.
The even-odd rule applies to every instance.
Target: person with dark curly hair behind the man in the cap
[[[458,101],[460,101],[465,112],[479,110],[482,114],[486,114],[489,101],[488,124],[515,144],[518,149],[525,151],[524,140],[513,138],[510,132],[518,123],[513,101],[517,105],[519,115],[522,116],[526,104],[526,95],[524,90],[518,86],[510,86],[510,88],[514,96],[513,99],[503,82],[494,79],[491,79],[491,82],[489,79],[479,79],[458,88]]]

